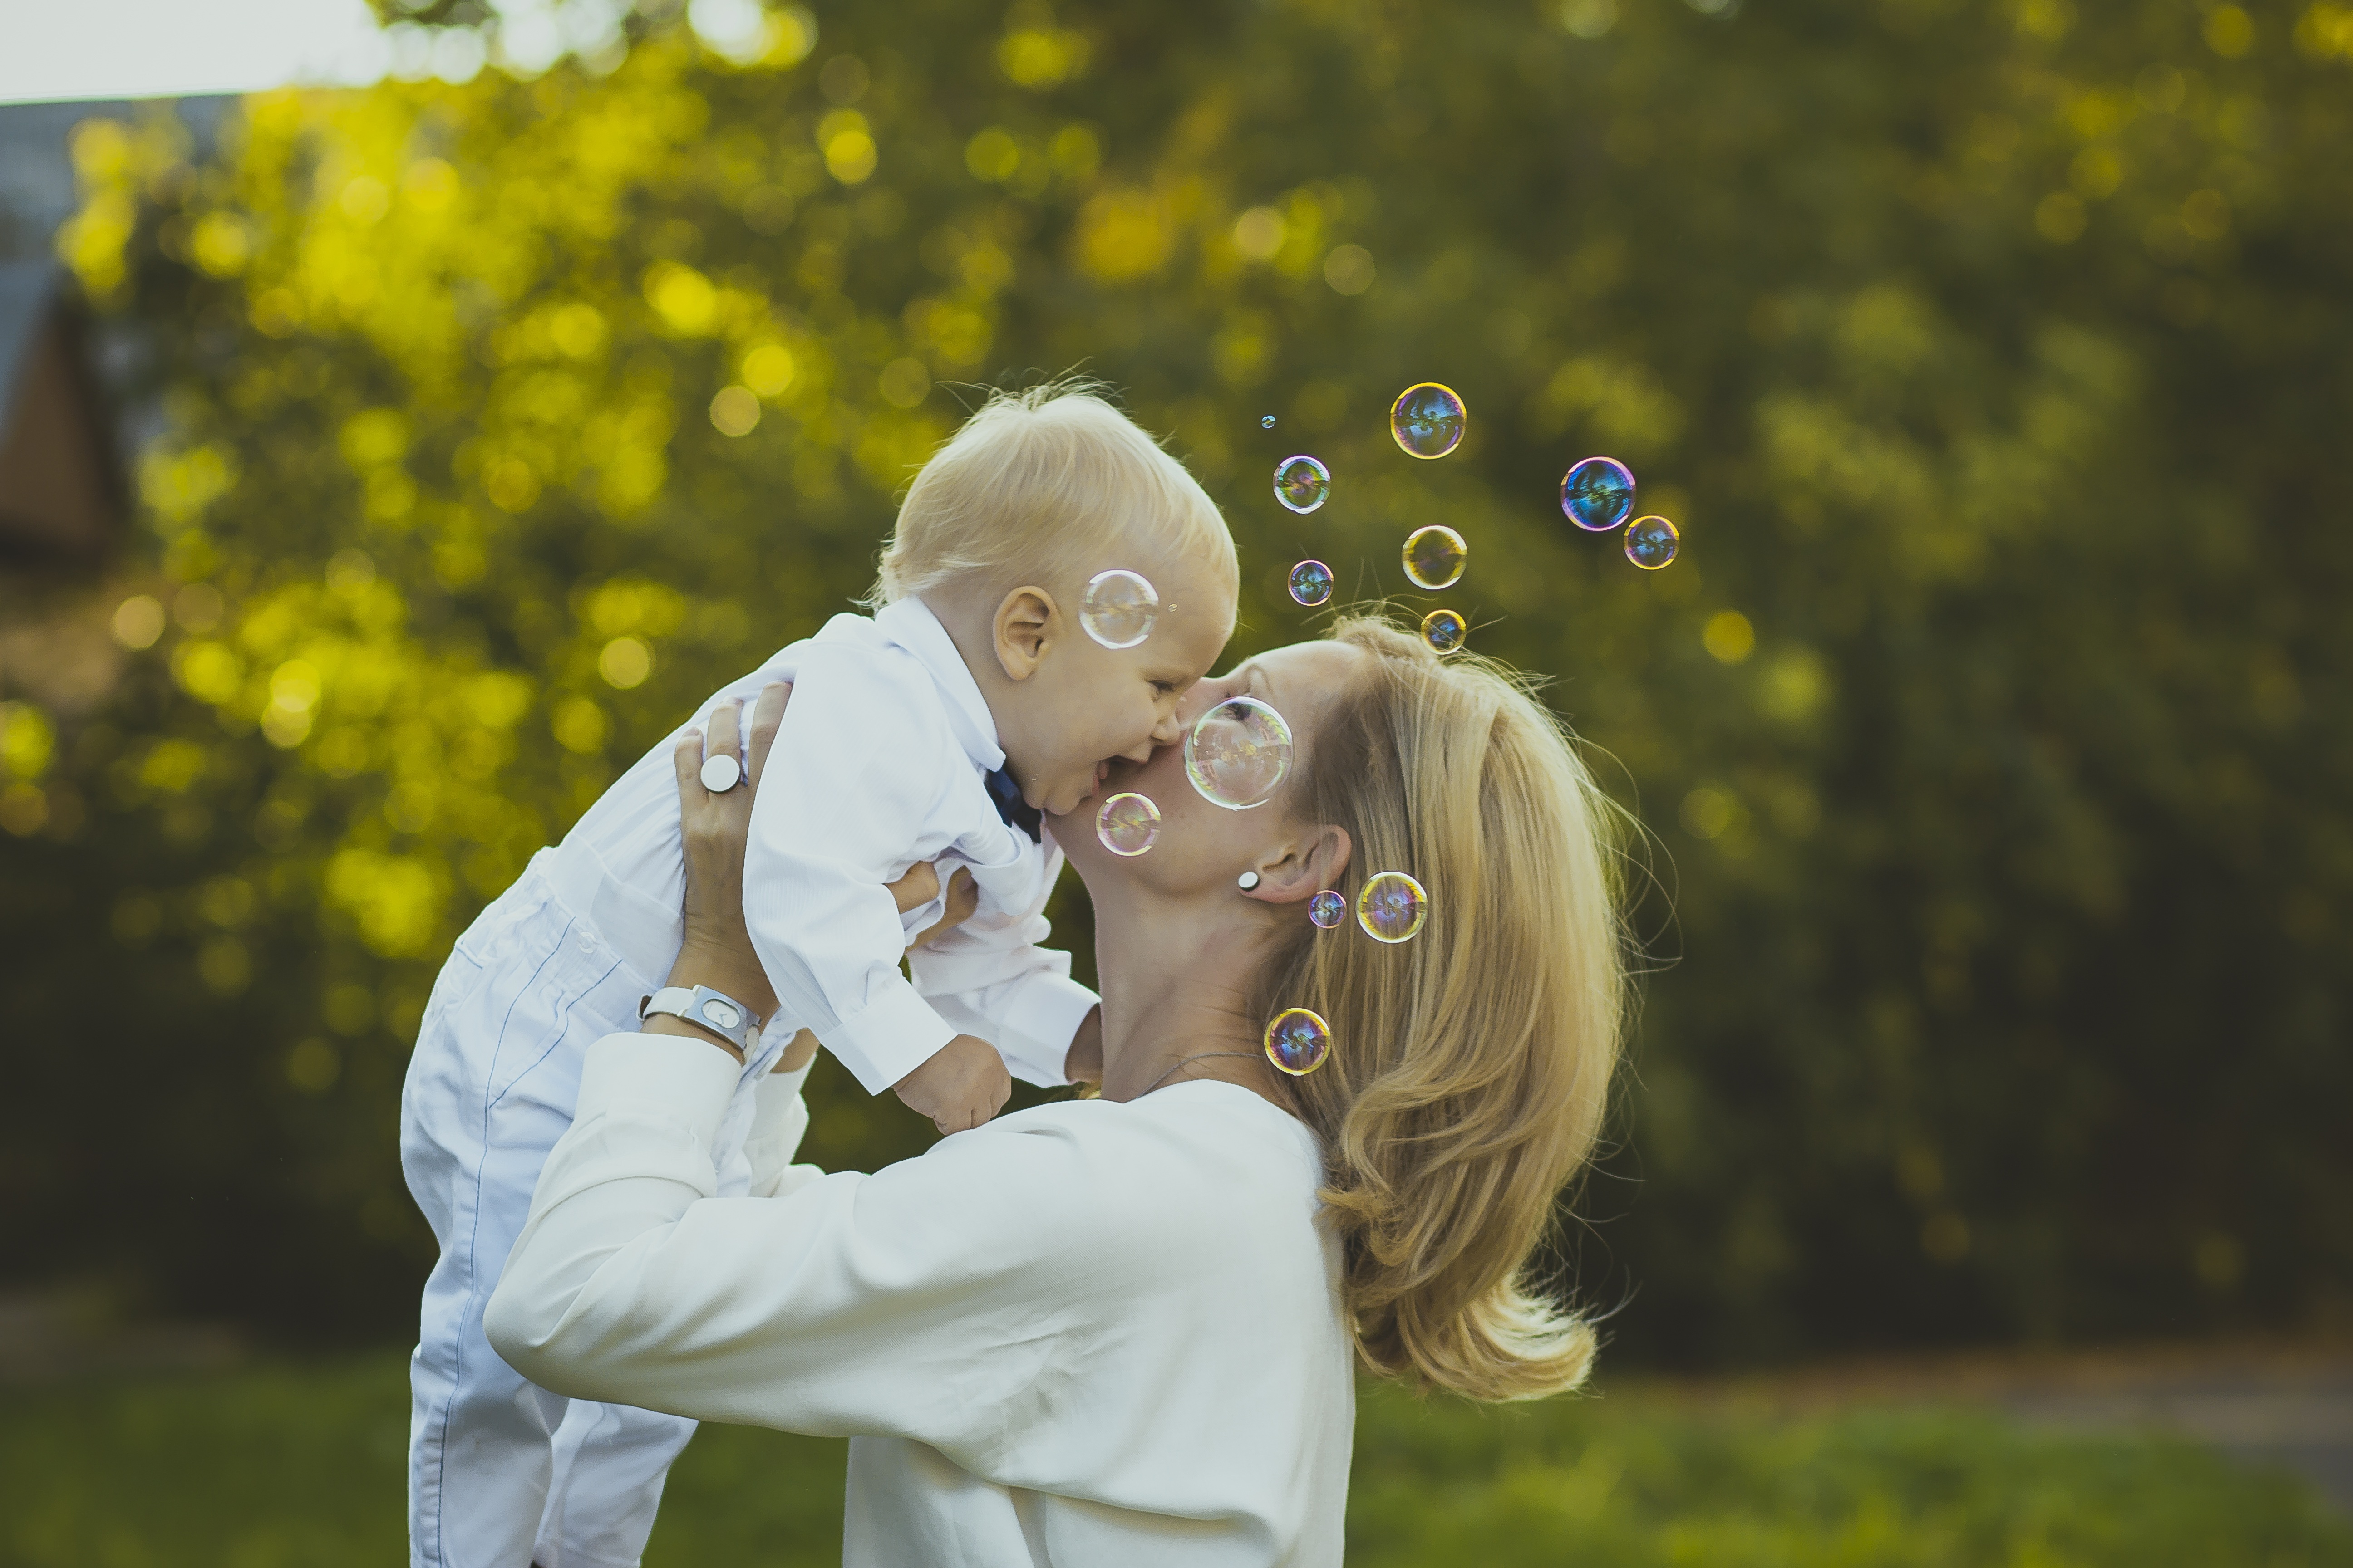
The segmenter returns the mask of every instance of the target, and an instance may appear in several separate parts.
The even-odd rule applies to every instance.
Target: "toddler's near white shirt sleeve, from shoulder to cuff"
[[[951,783],[925,701],[859,651],[812,646],[744,846],[744,924],[784,1016],[816,1030],[868,1093],[955,1037],[899,973],[906,936],[887,886]]]

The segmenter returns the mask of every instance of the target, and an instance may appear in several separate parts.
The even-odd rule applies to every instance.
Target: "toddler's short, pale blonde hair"
[[[1188,550],[1240,581],[1233,534],[1184,463],[1092,381],[991,393],[899,503],[868,604],[981,576],[1085,578]],[[1136,557],[1136,559],[1132,559]]]

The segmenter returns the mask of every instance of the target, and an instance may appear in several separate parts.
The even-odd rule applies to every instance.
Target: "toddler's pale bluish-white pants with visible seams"
[[[600,929],[631,914],[626,940]],[[638,1027],[659,985],[619,952],[661,952],[664,936],[678,950],[675,926],[642,914],[593,856],[541,851],[433,983],[400,1093],[400,1168],[440,1241],[409,1356],[412,1568],[635,1568],[694,1434],[680,1415],[548,1394],[482,1338],[539,1168],[572,1126],[581,1053]],[[751,1086],[784,1037],[762,1039],[722,1126],[722,1194],[748,1187]]]

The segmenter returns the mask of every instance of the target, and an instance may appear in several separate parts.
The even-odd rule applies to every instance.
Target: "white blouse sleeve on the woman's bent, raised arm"
[[[711,1140],[734,1074],[694,1039],[591,1046],[485,1321],[525,1378],[986,1467],[1052,1415],[1026,1396],[1052,1363],[1132,1335],[1167,1255],[1113,1220],[1120,1178],[1068,1126],[981,1126],[875,1175],[720,1199]]]

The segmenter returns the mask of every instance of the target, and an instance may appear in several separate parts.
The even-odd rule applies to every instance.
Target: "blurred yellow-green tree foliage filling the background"
[[[656,9],[209,160],[92,122],[158,578],[108,705],[5,719],[9,1267],[402,1331],[452,936],[866,585],[953,383],[1082,364],[1226,505],[1238,654],[1301,555],[1442,599],[1654,832],[1619,1354],[2344,1321],[2348,132],[2353,12],[2179,0]],[[1671,569],[1562,522],[1591,451]]]

